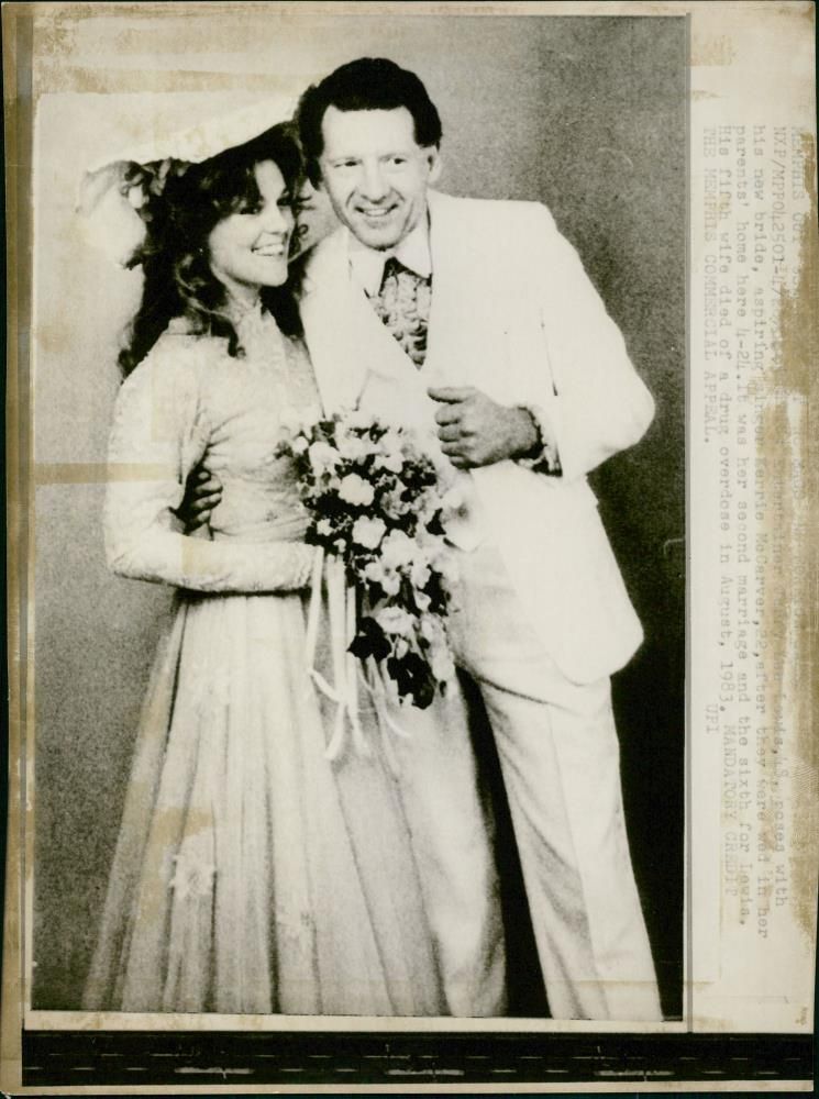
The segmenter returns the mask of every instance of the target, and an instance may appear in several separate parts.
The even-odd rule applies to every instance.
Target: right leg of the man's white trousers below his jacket
[[[660,1020],[610,680],[566,679],[492,547],[457,562],[455,658],[477,682],[495,734],[552,1015]]]

